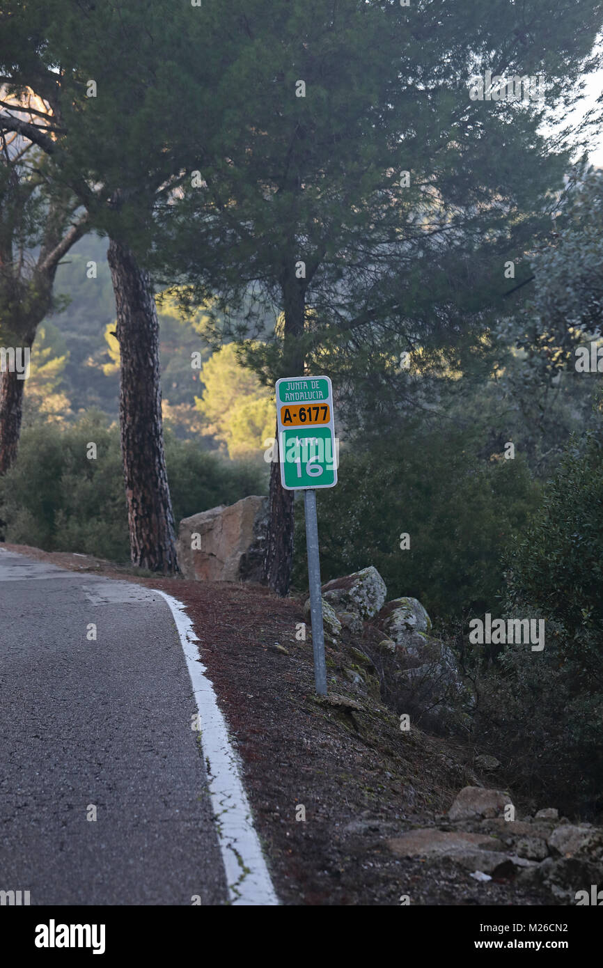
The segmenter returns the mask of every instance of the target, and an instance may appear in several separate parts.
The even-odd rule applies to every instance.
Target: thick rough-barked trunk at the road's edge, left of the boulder
[[[164,453],[153,288],[127,246],[111,239],[107,260],[121,355],[119,419],[131,557],[141,568],[172,574],[178,564]]]

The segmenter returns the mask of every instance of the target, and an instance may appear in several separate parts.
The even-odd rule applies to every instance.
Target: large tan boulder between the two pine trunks
[[[256,496],[183,518],[176,546],[183,576],[196,582],[259,582],[267,522],[268,499]]]

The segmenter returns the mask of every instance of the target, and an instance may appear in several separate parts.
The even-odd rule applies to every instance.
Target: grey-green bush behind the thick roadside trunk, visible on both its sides
[[[86,457],[90,441],[96,460]],[[228,462],[169,433],[166,464],[176,527],[197,511],[266,490],[263,467]],[[26,428],[15,466],[0,478],[0,519],[15,544],[129,560],[118,428],[101,413],[66,427]]]

